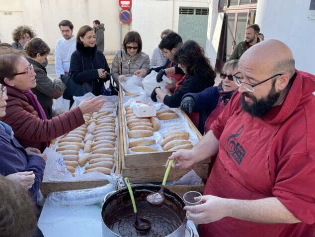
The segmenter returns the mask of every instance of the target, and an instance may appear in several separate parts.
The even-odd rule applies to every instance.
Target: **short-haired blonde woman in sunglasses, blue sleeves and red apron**
[[[210,125],[227,106],[238,86],[233,81],[233,74],[238,70],[238,60],[227,62],[220,73],[221,83],[217,87],[209,87],[200,93],[188,93],[183,96],[180,107],[184,111],[200,112],[203,116],[205,134]]]

